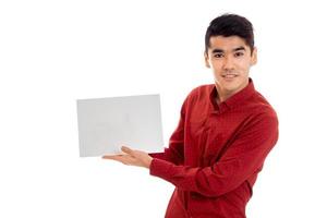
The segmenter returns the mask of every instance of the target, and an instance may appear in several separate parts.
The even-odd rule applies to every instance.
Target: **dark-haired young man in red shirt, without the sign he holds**
[[[152,175],[174,184],[166,218],[244,218],[257,174],[278,138],[276,112],[249,77],[257,55],[252,24],[235,14],[218,16],[205,45],[215,84],[189,94],[169,148],[148,155],[122,147],[125,155],[104,156],[149,168]]]

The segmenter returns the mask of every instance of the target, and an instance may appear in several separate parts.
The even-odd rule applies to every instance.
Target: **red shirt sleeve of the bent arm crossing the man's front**
[[[219,196],[234,190],[257,173],[277,138],[277,117],[264,116],[244,128],[213,166],[192,168],[154,158],[149,172],[184,191],[197,192],[209,197]]]

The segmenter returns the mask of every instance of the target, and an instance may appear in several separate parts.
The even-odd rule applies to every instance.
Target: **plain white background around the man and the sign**
[[[0,217],[164,217],[173,186],[80,158],[76,99],[159,93],[165,143],[181,104],[211,83],[204,34],[225,12],[255,27],[256,88],[280,138],[250,218],[327,217],[324,1],[0,1]]]

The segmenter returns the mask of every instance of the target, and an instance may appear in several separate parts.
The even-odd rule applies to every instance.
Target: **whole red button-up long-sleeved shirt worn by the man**
[[[166,218],[244,218],[264,160],[278,138],[277,114],[249,85],[217,105],[215,85],[193,89],[150,174],[175,185]]]

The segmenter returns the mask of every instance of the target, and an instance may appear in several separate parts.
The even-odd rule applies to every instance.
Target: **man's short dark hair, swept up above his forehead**
[[[237,14],[222,14],[210,22],[205,36],[205,51],[208,52],[213,36],[239,36],[245,40],[251,52],[254,48],[252,23]]]

